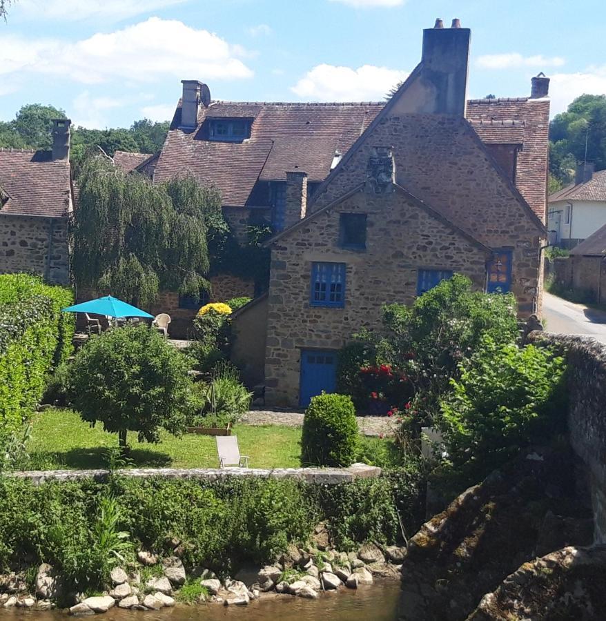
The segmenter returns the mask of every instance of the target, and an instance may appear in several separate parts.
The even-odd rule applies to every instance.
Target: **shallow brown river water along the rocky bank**
[[[144,613],[114,608],[97,618],[99,621],[394,621],[399,595],[399,580],[382,580],[372,586],[361,584],[356,591],[339,589],[338,593],[321,593],[317,600],[270,595],[247,607],[202,604]],[[14,611],[13,614],[26,615],[28,621],[66,621],[69,618],[61,611]]]

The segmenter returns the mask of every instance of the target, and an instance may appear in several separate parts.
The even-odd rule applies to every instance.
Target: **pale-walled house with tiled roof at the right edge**
[[[574,183],[549,195],[550,242],[560,248],[574,248],[605,224],[606,170],[594,172],[594,164],[580,164]]]

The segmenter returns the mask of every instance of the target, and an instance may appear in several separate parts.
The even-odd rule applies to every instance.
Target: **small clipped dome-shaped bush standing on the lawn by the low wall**
[[[314,466],[350,466],[358,445],[358,422],[351,397],[312,397],[303,421],[301,460]]]

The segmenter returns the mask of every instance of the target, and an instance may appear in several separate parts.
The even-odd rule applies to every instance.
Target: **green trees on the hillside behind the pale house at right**
[[[549,124],[549,170],[562,184],[574,181],[578,162],[606,168],[606,95],[581,95],[569,104],[567,112],[556,115]],[[551,188],[550,188],[551,190]]]

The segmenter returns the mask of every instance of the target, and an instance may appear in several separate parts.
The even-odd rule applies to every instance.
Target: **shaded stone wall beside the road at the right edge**
[[[564,347],[568,360],[570,443],[589,470],[595,542],[606,543],[606,346],[591,337],[533,332],[536,344]]]

